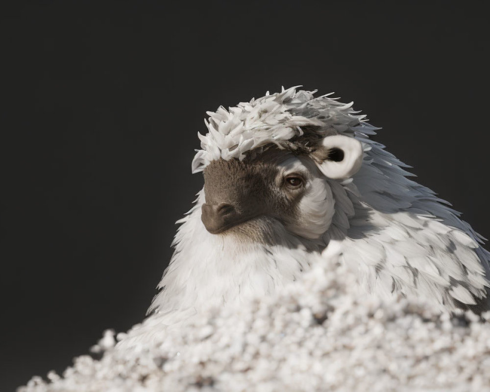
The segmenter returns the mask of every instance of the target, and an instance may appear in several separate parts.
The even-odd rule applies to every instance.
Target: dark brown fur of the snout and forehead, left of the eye
[[[259,216],[294,220],[303,189],[289,189],[276,166],[288,153],[262,155],[244,161],[219,159],[206,167],[201,219],[209,232],[221,233]]]

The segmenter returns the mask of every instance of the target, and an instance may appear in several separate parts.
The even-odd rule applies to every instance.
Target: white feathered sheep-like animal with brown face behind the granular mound
[[[487,309],[482,237],[369,140],[377,128],[352,103],[314,93],[294,87],[208,112],[192,164],[204,188],[179,221],[149,312],[171,324],[268,295],[332,252],[371,292]]]

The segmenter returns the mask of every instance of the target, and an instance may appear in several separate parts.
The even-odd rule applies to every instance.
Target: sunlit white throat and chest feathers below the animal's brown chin
[[[173,313],[209,304],[239,303],[250,295],[270,295],[308,269],[325,247],[289,233],[278,221],[254,221],[256,238],[236,230],[210,234],[201,222],[204,195],[181,221],[172,261],[148,312]],[[313,256],[314,255],[314,256]]]

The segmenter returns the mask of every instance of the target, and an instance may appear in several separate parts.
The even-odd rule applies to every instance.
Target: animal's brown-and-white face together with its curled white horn
[[[319,139],[308,153],[274,146],[242,160],[211,161],[204,169],[202,222],[212,234],[234,231],[253,238],[264,231],[257,218],[266,216],[291,233],[318,239],[335,212],[327,179],[350,177],[362,154],[357,140],[333,135]]]

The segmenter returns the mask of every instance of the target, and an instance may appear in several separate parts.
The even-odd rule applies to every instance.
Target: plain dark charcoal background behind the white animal
[[[1,391],[144,318],[202,185],[196,133],[220,104],[298,84],[354,100],[384,128],[376,140],[490,236],[483,8],[14,4],[0,12]]]

